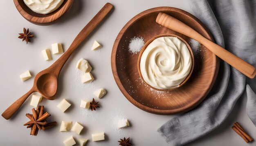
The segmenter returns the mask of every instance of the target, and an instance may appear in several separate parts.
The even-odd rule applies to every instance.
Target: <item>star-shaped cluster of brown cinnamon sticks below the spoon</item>
[[[30,135],[37,135],[38,130],[45,130],[48,128],[53,127],[57,124],[57,122],[51,122],[47,123],[46,118],[51,116],[48,112],[45,112],[43,114],[44,106],[38,106],[35,110],[35,108],[32,108],[32,115],[27,113],[26,116],[30,119],[29,122],[24,124],[24,126],[27,126],[27,128],[31,128]]]

